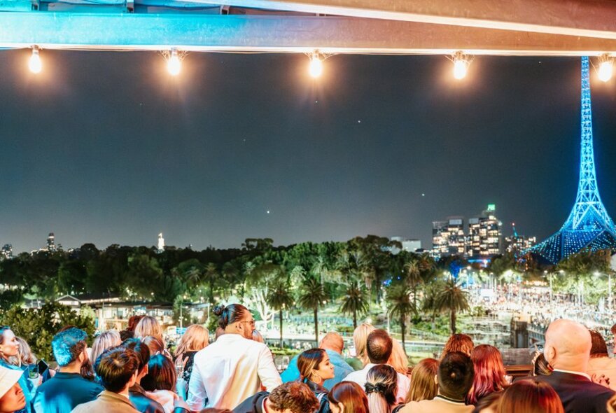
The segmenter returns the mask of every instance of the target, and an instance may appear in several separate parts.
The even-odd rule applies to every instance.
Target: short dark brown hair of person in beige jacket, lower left
[[[119,393],[137,372],[139,358],[131,349],[114,347],[102,353],[94,366],[103,387]]]

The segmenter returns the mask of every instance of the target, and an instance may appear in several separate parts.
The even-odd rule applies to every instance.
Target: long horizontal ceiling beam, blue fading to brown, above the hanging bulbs
[[[228,52],[599,55],[616,41],[344,17],[0,13],[0,47]]]

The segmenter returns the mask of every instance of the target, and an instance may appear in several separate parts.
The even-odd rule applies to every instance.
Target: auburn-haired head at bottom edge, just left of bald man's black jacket
[[[552,386],[537,379],[524,379],[507,387],[496,412],[564,413],[564,409]]]

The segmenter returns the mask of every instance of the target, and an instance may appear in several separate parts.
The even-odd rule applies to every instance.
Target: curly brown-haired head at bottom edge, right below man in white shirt
[[[267,398],[267,410],[270,413],[314,412],[318,406],[319,402],[314,393],[300,381],[281,384],[274,388]]]

